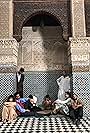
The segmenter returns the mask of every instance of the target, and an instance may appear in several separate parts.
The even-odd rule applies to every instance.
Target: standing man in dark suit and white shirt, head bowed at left
[[[16,90],[19,92],[20,96],[23,97],[23,82],[24,82],[24,68],[16,73]]]

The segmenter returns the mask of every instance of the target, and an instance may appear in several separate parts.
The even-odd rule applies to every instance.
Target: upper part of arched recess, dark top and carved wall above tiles
[[[25,20],[18,55],[18,66],[27,71],[63,71],[68,64],[67,41],[59,21],[47,12]]]

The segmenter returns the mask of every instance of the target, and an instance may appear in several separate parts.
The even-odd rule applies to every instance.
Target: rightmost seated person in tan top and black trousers
[[[74,124],[79,125],[80,119],[83,117],[83,103],[76,95],[73,95],[72,100],[72,105],[69,107],[69,116]]]

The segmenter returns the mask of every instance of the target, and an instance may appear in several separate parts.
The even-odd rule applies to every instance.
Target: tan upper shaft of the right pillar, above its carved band
[[[84,0],[71,0],[72,35],[86,36]]]

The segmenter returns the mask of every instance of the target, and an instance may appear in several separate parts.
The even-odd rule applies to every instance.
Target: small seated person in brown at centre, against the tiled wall
[[[51,110],[52,109],[52,100],[49,95],[46,95],[44,97],[44,100],[42,102],[42,106],[44,110]]]

